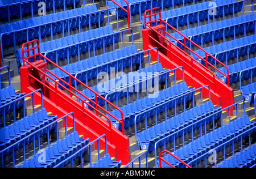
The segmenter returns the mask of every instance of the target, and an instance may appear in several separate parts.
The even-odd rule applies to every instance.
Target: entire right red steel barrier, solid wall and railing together
[[[156,10],[159,10],[159,12],[156,12]],[[150,12],[150,15],[147,15],[147,12]],[[154,14],[151,14],[151,11],[154,11]],[[159,18],[157,19],[156,15],[159,15]],[[155,19],[151,20],[151,17],[154,16]],[[146,22],[147,19],[150,19],[149,22]],[[143,29],[143,48],[144,50],[155,48],[155,46],[160,46],[161,50],[159,51],[159,62],[162,63],[163,67],[167,67],[168,69],[172,69],[174,67],[183,66],[185,70],[185,77],[186,82],[188,84],[194,86],[194,87],[201,87],[205,85],[210,86],[212,101],[214,104],[221,105],[222,107],[226,107],[229,105],[232,105],[234,103],[234,90],[229,87],[229,85],[226,85],[225,83],[221,82],[220,79],[218,79],[212,71],[208,69],[208,66],[212,66],[214,69],[216,69],[212,64],[210,64],[207,61],[207,55],[214,58],[210,54],[208,54],[204,49],[201,49],[200,46],[195,44],[193,41],[182,35],[179,31],[177,31],[175,28],[171,27],[170,24],[167,24],[164,22],[164,20],[161,19],[160,15],[160,8],[152,8],[151,10],[147,10],[144,14],[145,19],[145,29]],[[155,27],[152,27],[152,23],[155,23],[157,21],[160,21],[160,25],[156,25]],[[159,31],[157,31],[160,27],[165,27],[163,25],[167,24],[169,27],[174,29],[176,32],[180,33],[184,37],[184,44],[172,37],[166,30],[164,30],[161,34]],[[158,39],[162,38],[164,41],[161,43],[158,40],[154,38],[154,34],[158,36]],[[168,40],[164,35],[167,34],[170,37],[174,38],[177,42],[179,42],[181,45],[184,46],[184,50],[180,49],[178,46],[173,44],[170,40]],[[187,54],[187,50],[189,50],[192,53],[193,50],[191,50],[188,46],[186,46],[186,40],[191,41],[194,45],[197,46],[197,48],[203,50],[206,54],[206,59],[201,58],[205,61],[207,64],[206,66],[202,65],[200,62],[196,61],[196,59],[192,58],[189,54]],[[154,42],[154,43],[153,43]],[[153,56],[153,55],[152,55]],[[218,61],[218,59],[216,59]],[[220,62],[220,61],[218,61]],[[220,62],[221,63],[221,62]],[[223,63],[221,63],[223,66],[225,66]],[[226,67],[226,66],[225,66]],[[228,71],[228,67],[227,71]],[[218,71],[218,69],[216,69]],[[228,72],[229,73],[229,72]],[[223,73],[222,73],[223,74]],[[228,78],[229,82],[229,75],[223,74]],[[229,84],[229,83],[228,83]],[[203,92],[203,95],[208,95],[207,92]],[[229,100],[226,100],[229,99]]]

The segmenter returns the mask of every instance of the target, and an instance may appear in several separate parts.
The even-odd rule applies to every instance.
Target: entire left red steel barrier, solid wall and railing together
[[[35,42],[37,42],[36,46],[35,46]],[[29,44],[32,44],[32,48],[30,48]],[[27,46],[27,50],[24,50],[25,46]],[[36,49],[38,49],[38,53],[35,54]],[[25,58],[24,53],[29,53],[31,51],[33,51],[34,53],[31,56]],[[102,133],[106,134],[108,136],[108,141],[111,144],[112,148],[113,148],[113,146],[117,147],[117,149],[116,149],[117,155],[114,154],[114,156],[117,156],[118,160],[122,159],[123,164],[128,163],[130,160],[129,138],[124,135],[122,111],[119,108],[117,108],[117,106],[114,106],[112,103],[107,101],[104,97],[102,97],[98,93],[91,90],[84,83],[80,82],[74,76],[67,73],[67,71],[61,69],[61,67],[57,66],[51,60],[49,60],[48,58],[46,58],[42,54],[40,54],[40,47],[39,47],[38,40],[33,40],[33,41],[23,44],[22,45],[22,53],[23,53],[23,67],[20,68],[22,91],[23,92],[27,92],[29,90],[32,91],[32,88],[35,89],[35,88],[42,87],[43,91],[44,91],[44,96],[47,96],[47,98],[49,100],[51,100],[51,101],[48,100],[48,103],[47,103],[48,106],[50,106],[49,111],[52,111],[52,110],[59,111],[59,109],[54,109],[54,108],[62,108],[64,111],[67,111],[67,112],[70,112],[70,110],[71,110],[72,112],[74,112],[76,119],[78,119],[78,120],[76,120],[76,122],[79,123],[79,125],[80,125],[80,127],[78,127],[77,129],[82,129],[82,130],[77,130],[77,131],[79,131],[79,133],[80,132],[84,133],[83,130],[85,130],[85,128],[86,128],[86,131],[88,131],[88,133],[90,133],[90,136],[94,135],[93,138],[90,138],[90,139],[95,139],[95,137],[97,138],[98,136],[102,135]],[[39,61],[35,62],[35,59],[37,57],[39,58]],[[34,59],[34,64],[30,62],[31,58]],[[45,69],[45,71],[42,70],[42,65],[47,65],[47,63],[44,62],[42,59],[52,63],[52,65],[56,66],[60,70],[64,71],[64,73],[68,74],[69,83],[60,79],[58,76],[51,73],[51,71],[49,71],[47,69]],[[28,65],[26,65],[26,63]],[[45,82],[43,83],[41,79],[36,78],[35,71],[40,73],[40,77],[43,75],[47,76],[47,78],[53,80],[53,82],[55,82],[55,84],[49,82],[48,80],[45,80]],[[59,81],[56,81],[55,79],[53,79],[46,72],[48,74],[55,76],[55,78],[57,78]],[[44,79],[45,79],[45,77],[44,77]],[[78,83],[82,84],[84,87],[86,87],[90,91],[94,92],[94,94],[96,95],[96,101],[94,102],[93,100],[90,100],[87,96],[83,95],[80,91],[76,90],[76,88],[74,88],[71,84],[71,79],[77,80]],[[60,82],[64,83],[68,87],[65,87]],[[64,92],[63,90],[58,88],[57,85],[63,87],[64,90],[66,90],[69,93],[69,95],[67,92]],[[73,91],[75,91],[75,92],[79,93],[80,95],[82,95],[83,97],[85,97],[85,99],[87,99],[88,101],[93,103],[96,107],[94,107],[93,105],[90,105],[88,102],[81,99],[81,97],[76,95],[76,93]],[[73,99],[72,96],[75,96],[75,97],[77,97],[77,99],[80,99],[82,101],[82,103],[79,103],[77,100]],[[118,118],[116,118],[115,116],[110,114],[108,111],[106,111],[104,108],[102,108],[102,106],[98,105],[98,103],[97,103],[98,97],[100,97],[101,99],[106,101],[108,104],[112,105],[115,109],[118,109],[119,112],[121,112],[122,120],[119,120]],[[55,103],[55,105],[53,105],[53,103]],[[90,106],[96,113],[92,112],[92,110],[89,110],[88,108],[85,108],[85,104]],[[46,105],[46,108],[47,108],[47,105]],[[60,113],[60,111],[59,111],[59,113]],[[106,114],[104,114],[104,113],[109,114],[109,116],[112,116],[113,118],[115,118],[115,120],[117,120],[118,122],[120,122],[122,124],[122,129],[123,129],[122,133],[119,130],[115,129],[111,125],[111,121],[109,120],[109,117],[106,116]],[[106,120],[108,120],[108,122],[103,120],[99,116],[99,114],[102,117],[106,118]],[[90,128],[92,130],[90,130],[88,128]],[[99,134],[99,135],[96,136],[96,134]],[[88,134],[85,134],[85,135],[88,136]]]

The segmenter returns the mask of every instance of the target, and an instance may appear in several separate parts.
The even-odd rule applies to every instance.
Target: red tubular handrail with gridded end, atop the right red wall
[[[151,11],[154,10],[154,14],[151,14]],[[158,13],[156,13],[156,10],[159,10]],[[147,15],[147,12],[150,12],[149,15]],[[159,18],[156,19],[156,15],[159,15]],[[154,20],[151,20],[151,17],[152,16],[155,16],[155,19]],[[150,21],[147,22],[147,18],[150,18]],[[184,37],[184,44],[182,42],[180,42],[179,40],[177,40],[175,37],[173,37],[172,35],[170,35],[170,33],[168,32],[165,32],[168,36],[172,37],[172,39],[174,39],[175,41],[179,42],[181,45],[184,46],[184,50],[180,49],[177,45],[175,45],[174,43],[172,43],[170,40],[168,40],[165,36],[163,36],[161,33],[157,32],[154,28],[152,28],[152,23],[155,22],[155,24],[157,23],[157,21],[160,21],[160,24],[165,23],[167,24],[170,28],[174,29],[175,32],[179,33],[181,36]],[[230,86],[229,84],[229,68],[224,64],[222,63],[221,61],[219,61],[217,58],[213,57],[211,54],[209,54],[207,51],[205,51],[204,49],[202,49],[199,45],[197,45],[195,42],[193,42],[192,40],[188,39],[188,37],[184,36],[182,33],[180,33],[179,31],[177,31],[177,29],[175,29],[174,27],[172,27],[170,24],[166,23],[162,18],[161,18],[161,9],[160,7],[155,7],[155,8],[152,8],[150,10],[146,10],[144,12],[144,24],[145,24],[145,29],[148,27],[148,28],[151,28],[152,31],[156,32],[160,37],[163,37],[164,40],[166,40],[167,42],[170,42],[170,44],[174,45],[177,49],[181,50],[181,52],[184,52],[187,54],[187,50],[189,50],[190,52],[192,52],[193,54],[195,54],[197,57],[199,57],[200,59],[202,59],[204,62],[205,62],[205,66],[202,65],[201,63],[199,63],[196,59],[194,59],[193,57],[192,60],[199,63],[201,66],[203,66],[205,69],[207,69],[209,71],[209,73],[212,73],[212,75],[214,76],[215,78],[215,75],[214,73],[208,69],[208,65],[213,67],[214,70],[220,72],[222,75],[224,75],[227,80],[228,80],[228,87]],[[148,25],[150,24],[150,25]],[[170,49],[167,49],[166,46],[164,46],[163,44],[160,44],[160,42],[158,42],[157,40],[155,40],[153,37],[149,36],[152,40],[154,40],[157,44],[159,44],[160,46],[162,46],[164,49],[166,49],[168,52],[171,52]],[[186,41],[189,41],[191,42],[193,45],[195,45],[197,48],[199,48],[200,50],[203,50],[203,52],[205,53],[205,59],[203,57],[200,57],[197,53],[195,53],[192,49],[190,49],[187,44],[186,44]],[[217,61],[218,63],[220,63],[222,66],[224,66],[227,70],[227,75],[222,73],[222,71],[218,70],[215,66],[213,66],[211,63],[208,62],[207,58],[209,57],[212,57],[215,61]]]

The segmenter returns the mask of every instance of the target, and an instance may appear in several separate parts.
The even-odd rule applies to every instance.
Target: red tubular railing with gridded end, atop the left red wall
[[[37,45],[35,46],[35,42],[37,42]],[[30,45],[32,44],[32,48],[30,48]],[[27,50],[24,50],[24,47],[27,46]],[[38,53],[35,53],[35,50],[38,49]],[[28,55],[28,57],[24,57],[24,53],[30,53],[33,52],[33,54],[31,56]],[[53,63],[50,59],[44,57],[41,53],[40,53],[40,46],[39,46],[39,41],[38,40],[33,40],[30,42],[26,42],[22,45],[22,55],[23,55],[23,66],[26,65],[26,63],[28,65],[31,65],[35,70],[38,70],[42,75],[47,76],[47,78],[51,79],[53,82],[55,82],[55,90],[53,90],[52,88],[48,87],[46,84],[44,84],[42,81],[40,81],[38,78],[36,78],[35,76],[33,76],[32,74],[28,74],[32,79],[36,80],[36,82],[42,84],[44,87],[46,87],[48,90],[51,90],[52,92],[55,93],[56,95],[56,99],[57,97],[61,97],[61,95],[59,94],[60,92],[60,88],[57,87],[57,85],[61,86],[64,88],[64,90],[66,90],[67,92],[69,92],[70,96],[75,96],[77,97],[77,99],[82,101],[82,109],[79,109],[79,106],[73,105],[75,106],[75,108],[82,110],[82,112],[85,112],[85,104],[90,106],[90,108],[92,108],[93,110],[96,111],[97,116],[99,116],[99,114],[101,114],[102,117],[105,117],[108,122],[109,122],[109,131],[110,131],[110,138],[112,139],[112,125],[111,125],[111,121],[109,119],[108,116],[106,116],[106,114],[108,114],[109,116],[113,117],[115,120],[117,120],[118,122],[120,122],[122,124],[122,133],[124,134],[124,125],[123,125],[123,112],[122,110],[120,110],[119,108],[117,108],[117,106],[113,105],[112,103],[110,103],[108,100],[106,100],[104,97],[102,97],[101,95],[99,95],[97,92],[93,91],[91,88],[89,88],[88,86],[86,86],[84,83],[82,83],[80,80],[76,79],[73,75],[69,74],[67,71],[63,70],[60,66],[56,65],[55,63]],[[56,79],[59,80],[59,82],[55,79],[53,79],[51,76],[49,76],[48,74],[46,74],[44,71],[42,71],[41,69],[39,69],[38,67],[36,67],[35,65],[35,60],[36,57],[39,58],[39,60],[41,59],[45,59],[46,61],[52,63],[53,66],[59,68],[61,71],[63,71],[64,73],[66,73],[69,76],[69,83],[65,82],[63,79],[59,78],[59,76],[53,74],[51,71],[46,69],[46,72],[55,76]],[[34,59],[34,64],[31,63],[31,59]],[[81,93],[80,91],[76,90],[75,87],[72,86],[71,84],[71,79],[76,80],[78,83],[80,83],[82,86],[84,86],[85,88],[89,89],[90,91],[92,91],[95,95],[95,99],[96,101],[93,101],[91,99],[89,99],[89,97],[85,96],[83,93]],[[61,84],[60,82],[64,83],[64,85],[68,86],[69,88],[65,87],[63,84]],[[79,97],[78,95],[76,95],[75,92],[77,92],[77,94],[80,94],[82,97],[85,97],[85,99],[87,99],[88,101],[90,101],[93,105],[95,105],[96,107],[94,107],[93,105],[89,104],[88,102],[86,102],[85,100],[83,100],[81,97]],[[98,105],[98,97],[100,97],[101,99],[103,99],[104,101],[106,101],[106,103],[110,104],[111,106],[113,106],[115,109],[119,110],[119,112],[121,113],[122,119],[119,120],[117,117],[113,116],[111,113],[109,113],[105,108],[102,108],[102,106]],[[72,101],[68,101],[67,103],[72,104]],[[100,111],[100,109],[105,112],[106,114],[102,113]],[[96,121],[98,122],[98,121]],[[98,122],[99,123],[99,122]]]

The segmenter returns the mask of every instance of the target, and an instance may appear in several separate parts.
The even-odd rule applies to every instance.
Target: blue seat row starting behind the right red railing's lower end
[[[229,83],[237,83],[240,81],[240,72],[242,70],[251,69],[247,71],[243,71],[241,74],[241,80],[251,78],[251,75],[256,76],[256,58],[246,59],[245,61],[233,63],[232,65],[228,65],[229,69]],[[227,70],[225,67],[221,67],[220,70],[222,73],[227,74]],[[224,83],[228,83],[228,79],[222,75],[219,71],[216,73],[218,79],[220,79]]]

